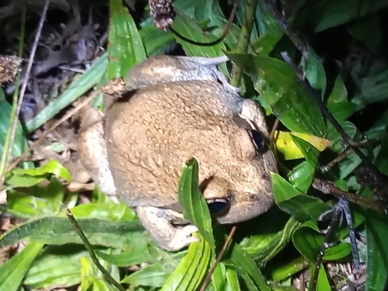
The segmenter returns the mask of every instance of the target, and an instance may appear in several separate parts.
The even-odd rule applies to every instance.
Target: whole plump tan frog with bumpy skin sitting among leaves
[[[214,223],[244,222],[274,204],[269,129],[257,102],[241,97],[218,69],[227,61],[150,57],[132,67],[104,112],[90,107],[81,119],[81,163],[168,251],[198,240],[178,202],[181,171],[192,158]]]

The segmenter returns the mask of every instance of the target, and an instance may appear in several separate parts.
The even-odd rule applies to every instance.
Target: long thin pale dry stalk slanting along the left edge
[[[46,19],[47,10],[49,9],[49,3],[50,3],[50,0],[45,1],[45,6],[43,7],[43,11],[42,11],[42,14],[40,16],[38,28],[37,28],[36,34],[35,34],[35,39],[34,39],[33,44],[32,44],[30,58],[28,60],[28,64],[27,64],[27,68],[26,68],[26,75],[25,75],[23,84],[22,84],[21,89],[20,89],[19,100],[17,102],[16,112],[15,112],[15,116],[14,116],[13,123],[12,123],[11,135],[10,135],[10,139],[9,139],[9,148],[8,148],[7,157],[5,160],[4,173],[0,178],[0,184],[3,183],[4,178],[5,178],[5,174],[7,173],[8,168],[9,168],[8,163],[9,163],[11,156],[12,156],[12,149],[13,149],[13,144],[14,144],[14,139],[15,139],[15,132],[16,132],[17,121],[19,118],[20,108],[21,108],[21,104],[23,102],[24,93],[26,92],[28,79],[29,79],[30,72],[32,69],[33,59],[35,57],[36,48],[38,47],[38,42],[39,42],[40,34],[42,32],[43,24],[44,24],[45,19]]]

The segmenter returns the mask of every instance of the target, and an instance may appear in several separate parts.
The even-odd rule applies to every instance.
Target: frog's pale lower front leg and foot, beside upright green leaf
[[[191,242],[198,241],[192,236],[198,229],[193,225],[173,226],[171,221],[174,217],[171,216],[171,211],[156,207],[136,208],[140,221],[155,241],[168,251],[178,251]]]

